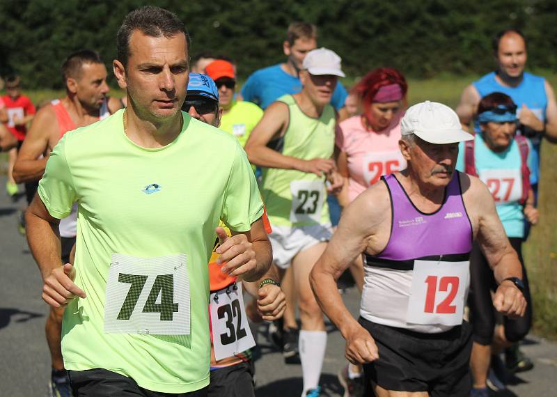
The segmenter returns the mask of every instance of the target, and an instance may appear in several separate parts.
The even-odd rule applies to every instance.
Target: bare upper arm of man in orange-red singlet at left
[[[22,148],[19,150],[13,169],[13,178],[17,183],[31,182],[42,178],[47,166],[47,157],[40,159],[49,147],[49,137],[56,134],[58,122],[51,106],[40,109],[27,133]]]

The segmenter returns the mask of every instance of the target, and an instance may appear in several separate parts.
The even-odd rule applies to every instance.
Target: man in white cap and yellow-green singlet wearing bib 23
[[[294,271],[302,396],[319,396],[327,348],[323,313],[308,274],[332,235],[327,191],[343,186],[331,158],[336,111],[329,104],[337,79],[343,76],[334,52],[324,48],[309,52],[300,71],[301,92],[283,95],[269,105],[245,146],[249,161],[262,167],[260,190],[273,229],[269,240],[274,263],[282,270],[292,264]]]

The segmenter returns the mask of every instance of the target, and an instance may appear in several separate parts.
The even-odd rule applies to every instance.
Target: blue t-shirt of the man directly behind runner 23
[[[261,109],[266,109],[278,98],[285,94],[295,94],[301,91],[301,82],[298,77],[289,75],[281,68],[281,64],[256,70],[246,80],[242,87],[242,98],[258,104]],[[344,106],[348,93],[343,84],[336,84],[331,104],[338,110]]]

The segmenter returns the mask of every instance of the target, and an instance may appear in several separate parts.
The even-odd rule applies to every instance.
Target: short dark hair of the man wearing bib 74
[[[145,6],[137,8],[127,14],[118,29],[116,47],[118,49],[118,61],[124,67],[130,58],[130,37],[135,30],[150,37],[171,38],[177,33],[184,33],[186,36],[186,48],[189,54],[189,34],[186,27],[175,13],[171,13],[164,8]]]

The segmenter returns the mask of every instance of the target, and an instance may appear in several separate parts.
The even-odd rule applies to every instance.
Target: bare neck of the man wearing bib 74
[[[177,111],[174,116],[164,120],[142,118],[136,114],[133,105],[128,106],[124,112],[125,134],[143,148],[156,149],[168,145],[182,131],[182,122],[181,111]]]

